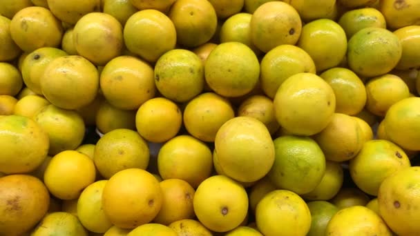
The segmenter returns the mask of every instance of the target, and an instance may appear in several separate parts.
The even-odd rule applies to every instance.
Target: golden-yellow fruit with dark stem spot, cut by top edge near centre
[[[169,11],[169,18],[176,28],[177,43],[189,48],[209,41],[218,25],[216,10],[210,1],[175,1]]]

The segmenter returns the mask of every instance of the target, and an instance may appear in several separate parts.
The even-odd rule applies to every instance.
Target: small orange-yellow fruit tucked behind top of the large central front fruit
[[[262,95],[251,96],[240,104],[238,117],[254,117],[265,124],[271,135],[280,128],[274,115],[274,103]]]

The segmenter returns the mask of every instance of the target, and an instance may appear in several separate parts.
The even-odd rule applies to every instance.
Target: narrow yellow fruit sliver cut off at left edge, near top
[[[0,42],[0,61],[10,61],[19,56],[21,49],[16,45],[15,41],[13,41],[12,36],[10,35],[10,19],[1,15]]]

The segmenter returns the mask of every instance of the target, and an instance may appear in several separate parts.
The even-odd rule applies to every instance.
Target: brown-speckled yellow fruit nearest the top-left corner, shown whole
[[[13,41],[25,52],[37,48],[57,48],[63,36],[61,22],[50,10],[31,6],[17,12],[10,22]]]

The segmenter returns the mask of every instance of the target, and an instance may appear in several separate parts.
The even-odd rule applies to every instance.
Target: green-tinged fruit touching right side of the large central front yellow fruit
[[[274,139],[276,159],[268,173],[278,189],[305,194],[314,190],[325,174],[325,157],[310,137],[287,135]]]

